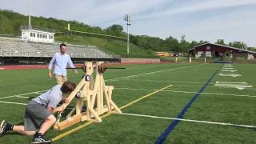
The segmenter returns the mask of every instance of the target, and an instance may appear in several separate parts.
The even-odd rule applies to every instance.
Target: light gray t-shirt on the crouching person
[[[56,108],[58,103],[62,101],[62,85],[56,85],[50,90],[47,90],[46,93],[41,94],[38,98],[32,99],[32,101],[39,103],[43,106],[50,106]]]

